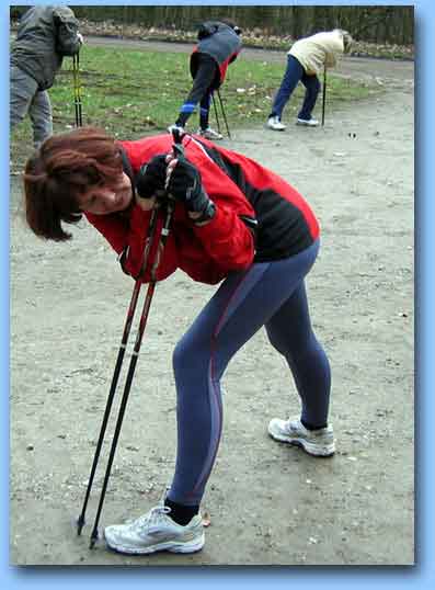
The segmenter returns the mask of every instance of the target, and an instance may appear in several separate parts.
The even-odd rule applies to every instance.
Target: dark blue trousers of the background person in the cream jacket
[[[287,69],[276,93],[270,116],[282,117],[284,107],[298,82],[302,82],[306,88],[304,104],[298,113],[298,117],[305,120],[311,118],[311,113],[320,92],[319,78],[316,75],[308,76],[300,63],[293,55],[288,56]]]

